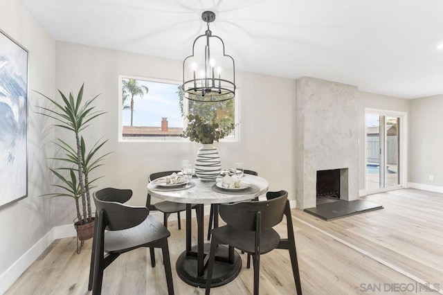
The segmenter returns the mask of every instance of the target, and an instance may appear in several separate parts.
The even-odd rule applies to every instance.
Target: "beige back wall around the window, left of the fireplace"
[[[113,152],[101,170],[100,187],[134,190],[132,204],[145,204],[147,176],[177,169],[183,159],[195,160],[199,144],[118,143],[118,75],[181,80],[181,62],[102,48],[57,42],[56,87],[78,91],[85,82],[86,97],[101,93],[98,108],[107,111],[87,138],[109,138],[105,150]],[[270,190],[288,190],[293,196],[291,104],[293,80],[238,71],[240,141],[215,143],[222,168],[243,161],[269,180]],[[58,136],[59,134],[57,134]]]

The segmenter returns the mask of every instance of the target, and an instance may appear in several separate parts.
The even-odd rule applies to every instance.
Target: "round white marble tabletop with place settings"
[[[260,191],[247,195],[217,193],[211,188],[215,184],[214,181],[205,182],[198,178],[192,178],[191,181],[194,182],[196,186],[186,190],[159,191],[155,190],[155,186],[151,184],[147,184],[147,190],[152,197],[162,199],[163,201],[186,204],[222,204],[253,199],[266,193],[269,188],[269,183],[266,179],[253,175],[244,175],[242,181],[255,184],[255,186],[260,188]],[[217,179],[217,181],[221,181],[221,178]]]

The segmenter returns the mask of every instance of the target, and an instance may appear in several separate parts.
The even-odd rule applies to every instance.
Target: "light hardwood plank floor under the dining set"
[[[332,222],[293,209],[303,293],[429,294],[418,283],[442,289],[443,195],[403,189],[361,199],[384,208]],[[177,276],[175,261],[184,250],[185,231],[174,222],[169,229],[175,293],[204,294]],[[284,224],[276,229],[286,236]],[[53,242],[6,294],[89,294],[91,244],[87,241],[77,255],[75,239]],[[239,276],[211,294],[251,294],[253,271],[246,269],[246,254],[242,260]],[[156,262],[150,267],[146,249],[123,254],[105,270],[102,294],[167,294],[159,250]],[[295,294],[288,251],[263,255],[260,267],[260,294]]]

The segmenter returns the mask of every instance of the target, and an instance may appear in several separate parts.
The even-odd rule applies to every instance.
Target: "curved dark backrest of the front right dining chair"
[[[266,201],[221,204],[219,206],[220,216],[230,226],[244,231],[255,231],[257,213],[260,212],[262,231],[271,229],[282,222],[288,197],[288,193],[284,190],[278,193],[280,196]]]

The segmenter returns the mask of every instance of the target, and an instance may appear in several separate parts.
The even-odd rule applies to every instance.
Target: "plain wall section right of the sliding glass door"
[[[410,100],[410,182],[443,187],[442,111],[443,95]]]

